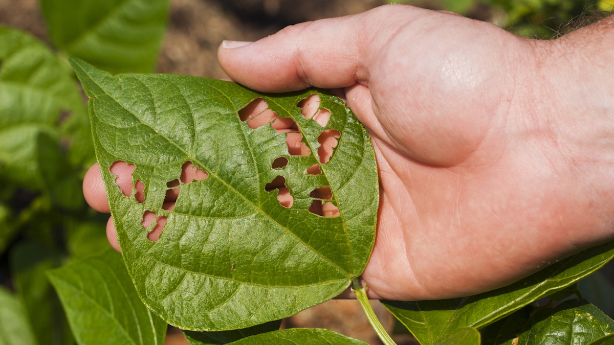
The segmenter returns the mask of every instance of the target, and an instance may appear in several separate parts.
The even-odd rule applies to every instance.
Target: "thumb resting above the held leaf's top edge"
[[[217,56],[233,80],[265,92],[302,90],[307,87],[343,88],[356,82],[368,85],[371,55],[397,25],[407,21],[404,5],[381,6],[358,15],[288,26],[254,43],[225,41]],[[404,13],[401,13],[404,12]]]

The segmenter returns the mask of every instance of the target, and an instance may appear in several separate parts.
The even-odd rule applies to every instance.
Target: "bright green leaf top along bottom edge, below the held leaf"
[[[209,343],[192,342],[192,345]],[[211,343],[225,344],[225,343]],[[248,336],[228,343],[232,345],[367,345],[364,341],[348,338],[334,331],[322,328],[289,328],[287,330],[271,331],[258,335]]]

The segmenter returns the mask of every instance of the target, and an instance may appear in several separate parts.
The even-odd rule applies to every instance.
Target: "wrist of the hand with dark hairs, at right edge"
[[[570,242],[614,235],[614,21],[535,42],[532,118],[559,177]],[[554,176],[553,176],[554,177]],[[554,177],[556,178],[556,177]]]

